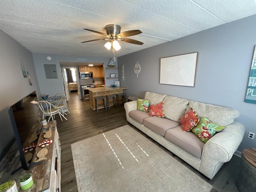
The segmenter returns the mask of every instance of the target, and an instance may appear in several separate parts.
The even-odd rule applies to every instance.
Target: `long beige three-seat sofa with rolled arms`
[[[124,104],[127,121],[210,179],[242,142],[245,127],[234,121],[240,115],[236,110],[152,92],[146,92],[144,99],[150,104],[164,102],[165,117],[150,117],[137,110],[137,101],[131,101]],[[199,118],[208,117],[226,128],[205,144],[194,133],[183,132],[179,119],[191,107]]]

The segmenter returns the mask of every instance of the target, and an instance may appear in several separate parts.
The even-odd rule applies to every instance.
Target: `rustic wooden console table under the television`
[[[39,127],[40,129],[42,125],[36,124],[35,126],[33,126],[33,128],[36,128],[36,127]],[[49,129],[51,130],[51,133],[52,133],[52,136],[50,138],[47,138],[49,140],[52,140],[52,143],[48,146],[43,147],[48,150],[48,153],[46,155],[47,160],[43,160],[42,164],[32,165],[30,167],[30,170],[28,171],[19,170],[13,175],[11,175],[11,172],[16,168],[18,168],[18,166],[20,166],[19,155],[12,154],[14,152],[18,153],[17,150],[13,151],[13,148],[17,148],[17,146],[15,146],[14,144],[12,148],[9,150],[10,153],[6,155],[0,163],[1,174],[2,174],[0,176],[0,184],[4,182],[8,182],[10,180],[15,180],[18,190],[22,191],[18,184],[18,178],[25,172],[28,172],[32,174],[34,184],[28,190],[24,190],[22,192],[60,192],[60,180],[61,180],[60,150],[61,148],[60,148],[59,134],[56,127],[56,120],[49,121],[42,128]],[[40,132],[40,135],[38,135],[38,142],[34,150],[31,162],[36,162],[38,160],[38,157],[36,156],[36,154],[42,149],[41,147],[38,146],[38,144],[43,140],[44,140],[44,131],[42,129],[42,131]]]

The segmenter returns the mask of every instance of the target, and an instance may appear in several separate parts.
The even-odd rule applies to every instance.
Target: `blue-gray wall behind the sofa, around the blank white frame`
[[[246,127],[238,151],[255,148],[256,139],[247,136],[256,133],[256,104],[244,102],[256,45],[255,23],[256,15],[118,57],[118,67],[124,64],[120,85],[128,88],[127,96],[144,98],[150,91],[238,110],[240,117],[235,120]],[[194,87],[160,84],[160,58],[192,52],[198,52]],[[137,60],[138,78],[134,73]]]

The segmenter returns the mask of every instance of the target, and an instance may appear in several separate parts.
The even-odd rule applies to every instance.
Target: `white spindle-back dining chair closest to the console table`
[[[48,101],[38,101],[38,105],[40,110],[43,112],[43,118],[46,118],[46,116],[50,116],[48,121],[52,118],[52,120],[55,118],[56,114],[60,115],[60,119],[62,120],[60,111],[58,108],[52,106]]]

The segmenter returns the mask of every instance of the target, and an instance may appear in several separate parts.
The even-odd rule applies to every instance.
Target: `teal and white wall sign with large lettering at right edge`
[[[256,46],[252,58],[252,65],[249,74],[249,80],[246,88],[246,95],[244,102],[256,104]]]

